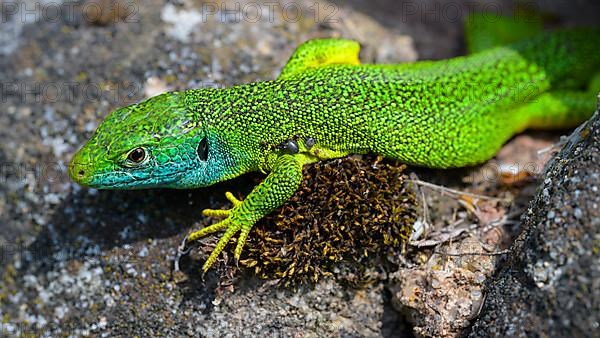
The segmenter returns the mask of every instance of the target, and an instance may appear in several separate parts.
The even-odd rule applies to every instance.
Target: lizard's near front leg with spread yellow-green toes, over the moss
[[[257,185],[244,201],[236,199],[227,192],[225,196],[233,203],[229,210],[205,209],[205,216],[225,217],[218,223],[200,229],[188,235],[188,241],[195,241],[208,234],[225,229],[225,233],[202,266],[206,272],[217,260],[231,237],[240,232],[234,257],[239,260],[246,238],[252,226],[262,217],[281,206],[296,192],[302,180],[303,156],[281,155],[271,169],[267,178]]]

